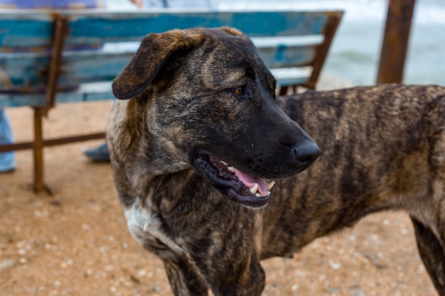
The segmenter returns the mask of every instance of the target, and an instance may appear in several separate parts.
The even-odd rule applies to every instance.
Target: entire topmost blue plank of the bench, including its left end
[[[49,46],[48,22],[55,13],[70,19],[66,44],[87,45],[140,40],[148,33],[191,27],[232,26],[250,37],[321,34],[327,16],[341,11],[0,11],[0,46]]]

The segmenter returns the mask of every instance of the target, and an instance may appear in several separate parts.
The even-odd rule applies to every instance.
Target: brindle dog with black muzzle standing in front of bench
[[[175,295],[260,295],[262,259],[401,209],[445,296],[444,87],[276,98],[245,35],[196,28],[147,35],[113,90],[119,198]],[[295,121],[321,147],[313,165],[320,150]]]

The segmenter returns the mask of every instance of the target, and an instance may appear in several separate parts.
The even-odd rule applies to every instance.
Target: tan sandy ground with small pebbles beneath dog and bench
[[[101,131],[109,102],[63,104],[45,136]],[[16,140],[31,138],[32,113],[9,109]],[[29,150],[0,175],[0,295],[171,295],[161,262],[127,230],[109,164],[82,150],[101,141],[45,149],[53,196],[31,190]],[[264,295],[437,295],[404,213],[368,216],[318,239],[293,259],[263,262]]]

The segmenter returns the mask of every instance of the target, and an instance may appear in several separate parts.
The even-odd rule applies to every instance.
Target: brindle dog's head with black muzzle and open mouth
[[[135,121],[127,126],[146,125],[153,143],[145,158],[192,167],[250,207],[269,200],[272,182],[262,178],[301,172],[320,153],[279,108],[275,88],[252,42],[233,28],[147,35],[113,82],[117,99],[139,102],[125,104],[127,115],[119,117]]]

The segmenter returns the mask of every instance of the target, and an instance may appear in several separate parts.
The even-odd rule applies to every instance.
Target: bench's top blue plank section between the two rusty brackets
[[[126,13],[96,16],[94,19],[77,16],[68,43],[76,38],[140,38],[147,33],[161,33],[173,28],[232,26],[246,35],[307,35],[321,33],[326,23],[325,13],[258,11],[258,12],[172,12]],[[96,31],[97,36],[91,36]],[[70,40],[71,39],[71,40]],[[134,40],[134,39],[132,39]],[[93,43],[95,41],[92,41]]]

